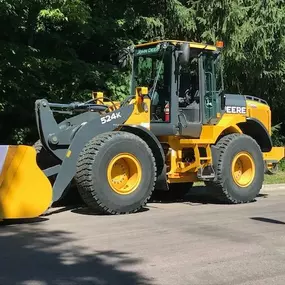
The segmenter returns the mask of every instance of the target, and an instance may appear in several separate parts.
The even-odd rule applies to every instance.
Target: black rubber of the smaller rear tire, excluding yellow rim
[[[217,145],[220,155],[215,165],[217,181],[206,182],[211,196],[226,203],[239,204],[252,202],[259,194],[264,181],[264,163],[257,142],[244,134],[230,134],[221,138]],[[234,157],[246,152],[255,164],[255,175],[249,185],[241,187],[232,175],[231,165]]]

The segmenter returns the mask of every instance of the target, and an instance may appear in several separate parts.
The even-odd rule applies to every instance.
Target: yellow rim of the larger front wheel
[[[115,156],[107,169],[108,182],[111,188],[120,195],[134,192],[142,179],[142,169],[135,156],[122,153]]]

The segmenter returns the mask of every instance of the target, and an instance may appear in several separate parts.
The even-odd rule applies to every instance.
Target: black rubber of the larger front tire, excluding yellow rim
[[[127,195],[116,193],[107,177],[110,161],[121,153],[133,155],[141,165],[141,183]],[[105,133],[90,140],[82,150],[75,180],[82,199],[91,209],[104,214],[134,213],[146,205],[154,190],[155,158],[138,136],[127,132]]]

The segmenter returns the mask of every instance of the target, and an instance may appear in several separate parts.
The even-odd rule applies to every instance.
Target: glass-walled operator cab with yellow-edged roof
[[[132,94],[138,86],[149,88],[154,134],[198,138],[202,125],[217,122],[222,111],[219,49],[178,41],[137,45]]]

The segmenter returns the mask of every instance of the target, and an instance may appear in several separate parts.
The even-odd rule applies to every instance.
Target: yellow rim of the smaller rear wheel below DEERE
[[[238,153],[232,162],[232,176],[240,187],[249,186],[255,176],[255,163],[247,152]]]

